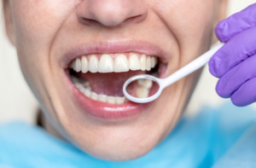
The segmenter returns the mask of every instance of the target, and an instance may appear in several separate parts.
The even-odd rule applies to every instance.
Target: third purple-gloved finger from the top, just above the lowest
[[[256,55],[242,61],[239,65],[224,74],[218,80],[216,91],[218,96],[228,98],[238,90],[247,80],[256,77]],[[256,85],[255,85],[256,90]]]

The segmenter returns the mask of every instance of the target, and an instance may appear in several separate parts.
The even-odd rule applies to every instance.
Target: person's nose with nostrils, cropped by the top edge
[[[91,25],[119,26],[141,22],[148,14],[144,0],[84,0],[77,8],[79,21]]]

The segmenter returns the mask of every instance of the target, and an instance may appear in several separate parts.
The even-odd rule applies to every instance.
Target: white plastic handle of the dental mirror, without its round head
[[[205,66],[208,63],[208,61],[210,61],[210,59],[212,58],[212,55],[214,55],[218,51],[218,49],[222,48],[223,46],[224,43],[219,43],[213,49],[210,49],[194,61],[191,61],[188,65],[182,67],[177,72],[172,73],[172,75],[170,75],[169,77],[160,79],[160,90],[165,89],[168,85],[175,83],[177,80],[189,75],[191,72],[195,72],[199,68]]]

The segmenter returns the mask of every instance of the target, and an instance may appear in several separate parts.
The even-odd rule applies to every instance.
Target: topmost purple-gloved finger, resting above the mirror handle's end
[[[215,28],[216,36],[221,42],[227,43],[231,38],[245,30],[256,26],[256,3],[222,20]]]

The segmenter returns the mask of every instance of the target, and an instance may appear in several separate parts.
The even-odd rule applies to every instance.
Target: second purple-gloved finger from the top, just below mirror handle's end
[[[231,68],[249,56],[256,54],[256,26],[241,32],[219,49],[209,61],[209,70],[213,76],[220,78]]]

